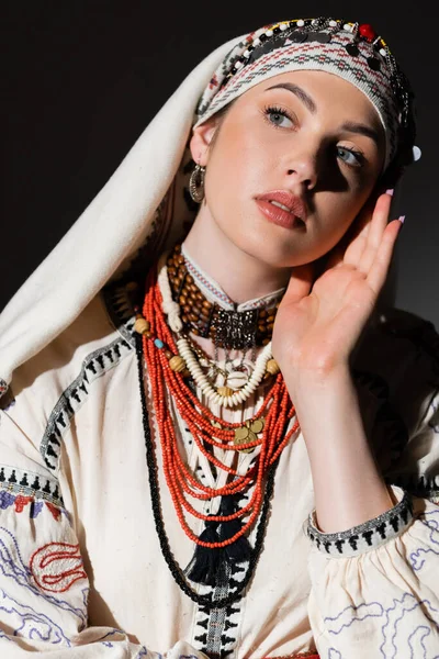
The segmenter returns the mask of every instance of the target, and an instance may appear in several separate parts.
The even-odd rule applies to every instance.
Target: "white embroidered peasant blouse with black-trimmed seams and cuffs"
[[[255,573],[240,599],[211,610],[182,592],[160,548],[133,325],[125,288],[109,284],[16,370],[1,401],[0,656],[437,657],[439,337],[432,325],[390,310],[371,325],[352,367],[395,507],[344,533],[319,533],[296,432],[275,470]],[[194,545],[164,478],[147,373],[144,383],[164,528],[184,570]],[[245,412],[228,411],[229,418],[246,420],[262,400],[263,387]],[[201,482],[218,487],[224,477],[211,472],[176,410],[175,418],[187,463]],[[240,454],[241,473],[256,453]],[[209,502],[194,505],[209,509]],[[198,535],[202,528],[193,526]],[[221,588],[187,583],[217,599],[234,593],[246,573],[241,563]]]

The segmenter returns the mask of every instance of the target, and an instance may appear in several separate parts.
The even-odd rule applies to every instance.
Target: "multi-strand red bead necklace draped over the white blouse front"
[[[146,280],[146,294],[143,315],[149,322],[148,336],[143,336],[143,351],[151,386],[151,398],[155,407],[159,438],[162,451],[164,473],[169,488],[177,516],[187,536],[196,545],[215,549],[232,545],[246,534],[257,521],[263,501],[264,479],[270,466],[278,459],[291,436],[299,428],[296,421],[285,433],[289,421],[294,416],[294,406],[289,396],[282,375],[279,373],[266,394],[263,403],[251,421],[264,417],[262,437],[247,444],[236,445],[235,429],[243,423],[230,423],[216,417],[209,407],[204,406],[184,382],[184,377],[173,371],[165,355],[165,346],[175,355],[177,346],[168,327],[162,308],[162,299],[157,282],[157,268],[150,268]],[[159,347],[157,347],[159,346]],[[178,412],[188,425],[192,437],[206,459],[218,469],[229,474],[229,481],[222,488],[213,489],[203,485],[184,465],[177,445],[170,406],[167,403],[167,390],[175,400]],[[221,427],[216,427],[219,423]],[[215,425],[213,425],[215,424]],[[215,434],[215,438],[212,436]],[[260,446],[260,454],[255,465],[245,476],[239,476],[236,469],[224,465],[204,446],[210,444],[223,450],[243,450]],[[248,504],[229,515],[205,515],[199,513],[188,501],[188,495],[199,500],[210,500],[215,496],[245,492],[252,483],[255,488]],[[187,523],[184,511],[199,520],[227,523],[245,515],[248,520],[230,538],[221,543],[201,540]]]

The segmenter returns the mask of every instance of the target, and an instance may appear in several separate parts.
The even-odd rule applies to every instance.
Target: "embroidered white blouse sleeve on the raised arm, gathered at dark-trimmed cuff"
[[[438,392],[399,463],[390,511],[342,533],[320,533],[314,513],[305,525],[308,614],[325,659],[439,656]]]

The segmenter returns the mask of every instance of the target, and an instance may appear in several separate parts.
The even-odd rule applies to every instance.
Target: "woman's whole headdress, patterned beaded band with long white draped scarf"
[[[281,27],[286,23],[288,30]],[[269,47],[269,43],[280,44],[275,51],[280,55],[290,53],[289,44],[281,46],[281,41],[274,40],[282,40],[291,33],[291,40],[299,40],[297,47],[303,49],[308,45],[308,55],[312,47],[318,51],[319,57],[313,68],[319,68],[317,64],[325,59],[326,53],[345,48],[345,66],[351,68],[352,81],[357,79],[363,91],[369,90],[369,98],[375,89],[375,107],[380,108],[389,139],[387,157],[399,148],[399,144],[412,148],[410,94],[406,96],[404,78],[397,67],[393,68],[394,60],[382,40],[368,37],[356,24],[351,24],[352,30],[345,30],[341,22],[337,22],[337,30],[329,23],[320,29],[320,24],[313,21],[304,21],[303,25],[300,21],[277,25],[279,32],[275,26],[264,27],[226,42],[193,69],[145,129],[108,183],[5,306],[0,314],[0,396],[8,390],[13,371],[68,327],[103,286],[131,264],[143,245],[147,243],[150,253],[157,256],[181,237],[184,224],[198,210],[193,203],[191,205],[188,192],[188,163],[191,161],[188,137],[191,127],[207,119],[209,113],[217,111],[221,104],[224,107],[229,102],[232,94],[226,96],[228,90],[236,91],[235,96],[244,91],[239,87],[239,80],[244,79],[240,69],[264,75],[264,48]],[[324,35],[330,36],[326,43],[327,36]],[[315,38],[317,41],[313,41]],[[357,46],[359,55],[356,56],[353,51],[349,53],[348,45]],[[383,68],[380,76],[389,67],[384,93],[383,89],[380,90],[378,72],[370,63],[364,63],[364,57],[369,56],[365,48],[380,62],[380,71]],[[381,49],[386,49],[385,56]],[[248,57],[247,52],[254,55]],[[301,52],[303,56],[304,52]],[[359,65],[354,64],[356,57],[359,57]],[[270,58],[270,62],[274,60]],[[283,62],[279,57],[275,66],[271,66],[272,75],[283,70]],[[331,55],[326,70],[335,66],[341,75],[341,55]],[[213,75],[213,71],[216,72]],[[256,82],[260,79],[257,78]],[[395,91],[398,87],[401,99]],[[402,126],[409,138],[399,142],[395,137],[397,126]]]

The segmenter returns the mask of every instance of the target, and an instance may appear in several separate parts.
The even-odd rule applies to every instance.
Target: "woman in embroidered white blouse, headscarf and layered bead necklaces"
[[[187,78],[1,319],[4,656],[436,656],[437,335],[378,312],[417,155],[369,25]]]

